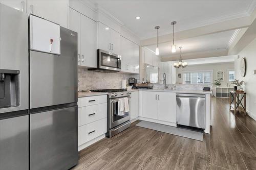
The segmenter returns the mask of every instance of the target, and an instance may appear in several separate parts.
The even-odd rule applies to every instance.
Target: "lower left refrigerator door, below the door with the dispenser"
[[[0,169],[29,169],[29,116],[0,120]]]

